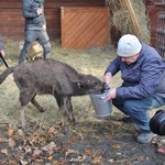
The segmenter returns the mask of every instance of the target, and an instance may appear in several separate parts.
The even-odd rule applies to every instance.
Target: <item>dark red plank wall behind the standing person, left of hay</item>
[[[61,7],[105,7],[105,0],[45,0],[47,33],[61,38]],[[12,40],[24,38],[22,0],[0,0],[0,34]]]

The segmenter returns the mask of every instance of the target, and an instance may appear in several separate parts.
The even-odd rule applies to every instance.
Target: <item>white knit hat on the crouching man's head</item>
[[[118,42],[118,55],[121,57],[133,56],[142,50],[139,38],[132,34],[123,35]]]

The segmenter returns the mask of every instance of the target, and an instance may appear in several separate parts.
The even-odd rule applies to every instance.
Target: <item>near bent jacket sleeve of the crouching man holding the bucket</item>
[[[153,95],[160,85],[164,70],[164,62],[158,58],[147,59],[147,63],[141,70],[140,84],[133,87],[117,88],[117,97],[122,99],[145,98]]]

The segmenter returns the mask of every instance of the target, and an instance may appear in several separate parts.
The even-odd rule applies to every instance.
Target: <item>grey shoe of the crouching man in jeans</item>
[[[153,138],[155,138],[156,134],[153,132],[142,132],[140,135],[136,136],[136,142],[141,144],[150,143]]]

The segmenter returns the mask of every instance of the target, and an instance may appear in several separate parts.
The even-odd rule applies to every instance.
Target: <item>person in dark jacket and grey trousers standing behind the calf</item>
[[[22,0],[23,16],[25,19],[25,42],[20,53],[19,64],[24,63],[28,51],[35,41],[43,47],[44,59],[51,57],[51,43],[46,32],[43,3],[44,0]]]

